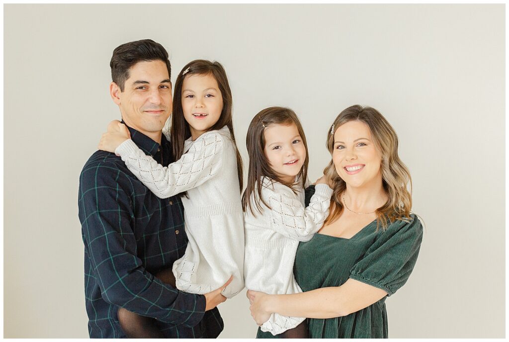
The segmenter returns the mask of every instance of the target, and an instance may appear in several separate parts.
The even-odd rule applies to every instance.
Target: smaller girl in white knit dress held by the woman
[[[325,177],[304,207],[307,145],[302,126],[289,108],[260,111],[247,131],[249,172],[242,195],[245,229],[244,279],[248,290],[293,294],[302,290],[293,265],[299,241],[309,241],[329,214],[332,189]],[[305,318],[272,313],[262,331],[306,338]]]

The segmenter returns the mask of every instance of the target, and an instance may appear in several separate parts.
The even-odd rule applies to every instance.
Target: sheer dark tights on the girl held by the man
[[[155,276],[175,288],[175,276],[171,268],[164,269]],[[154,318],[138,315],[123,307],[119,308],[117,315],[120,327],[129,338],[164,338]]]

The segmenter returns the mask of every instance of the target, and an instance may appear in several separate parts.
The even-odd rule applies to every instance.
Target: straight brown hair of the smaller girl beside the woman
[[[306,158],[302,164],[302,168],[297,175],[296,183],[288,183],[282,180],[272,167],[270,166],[267,157],[265,156],[265,129],[270,125],[291,125],[295,124],[302,138],[302,143],[306,150]],[[297,186],[303,186],[307,179],[307,164],[309,163],[309,157],[307,153],[306,137],[304,130],[300,124],[299,119],[295,112],[290,108],[284,107],[269,107],[260,111],[249,124],[246,136],[247,153],[249,155],[249,169],[247,174],[247,186],[242,194],[242,210],[246,211],[249,209],[253,215],[256,216],[255,210],[262,212],[262,206],[260,201],[268,208],[269,205],[264,201],[262,197],[262,177],[268,177],[273,182],[278,182],[288,186],[294,192],[296,192]],[[251,194],[254,194],[253,201],[251,201]]]

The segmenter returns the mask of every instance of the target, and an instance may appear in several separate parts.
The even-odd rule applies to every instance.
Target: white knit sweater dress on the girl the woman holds
[[[262,179],[262,213],[244,213],[246,246],[244,279],[248,290],[268,294],[293,294],[302,290],[295,281],[293,265],[299,241],[309,241],[329,215],[332,189],[317,184],[309,206],[304,207],[304,190],[295,194],[281,183]],[[251,194],[251,200],[253,198]],[[251,202],[252,203],[252,202]],[[295,328],[304,318],[273,313],[262,331],[273,335]]]

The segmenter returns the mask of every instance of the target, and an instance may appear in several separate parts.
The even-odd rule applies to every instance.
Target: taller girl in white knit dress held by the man
[[[129,137],[127,128],[114,122],[100,149],[120,155],[158,197],[181,194],[184,205],[187,249],[173,265],[174,279],[171,271],[156,276],[175,282],[181,291],[206,294],[233,275],[221,294],[238,294],[244,288],[242,160],[233,132],[232,93],[221,64],[192,61],[177,77],[168,136],[174,163],[161,166]],[[155,322],[121,310],[125,309],[119,309],[119,321],[128,337],[163,337]]]

